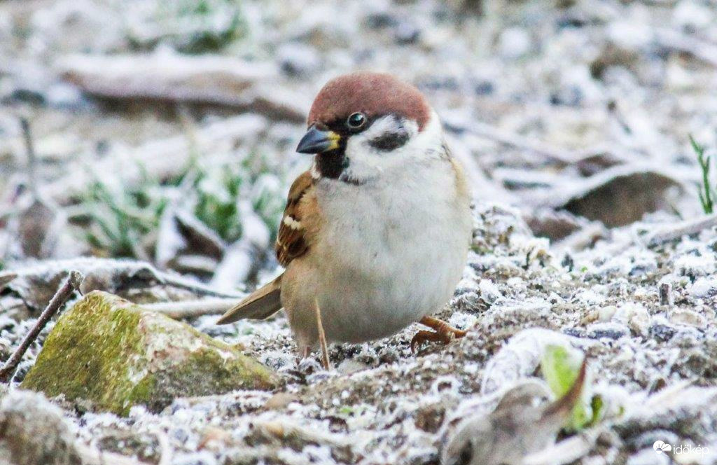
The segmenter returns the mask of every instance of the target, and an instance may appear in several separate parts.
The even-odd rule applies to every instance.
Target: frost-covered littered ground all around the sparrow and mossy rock
[[[119,418],[16,390],[51,323],[2,401],[4,431],[48,438],[55,463],[77,463],[74,447],[87,463],[101,450],[161,465],[435,464],[453,418],[541,379],[544,347],[564,344],[587,354],[606,406],[545,463],[669,463],[655,441],[702,446],[677,463],[717,460],[717,234],[669,233],[713,218],[688,138],[717,146],[713,2],[199,3],[0,4],[0,262],[20,275],[0,296],[2,359],[69,269],[101,268],[87,286],[139,303],[274,276],[285,191],[309,162],[294,153],[303,116],[356,69],[418,85],[465,165],[473,250],[440,316],[468,335],[412,354],[410,327],[332,347],[323,372],[298,362],[281,314],[199,316],[282,387]],[[107,260],[73,261],[85,255]]]

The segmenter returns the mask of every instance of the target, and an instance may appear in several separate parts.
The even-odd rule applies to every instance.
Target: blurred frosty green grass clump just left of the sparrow
[[[269,170],[265,157],[255,155],[239,164],[203,167],[192,163],[165,181],[145,174],[125,189],[96,179],[81,198],[89,219],[85,240],[97,255],[147,259],[153,255],[161,216],[176,197],[171,191],[180,189],[186,197],[182,207],[227,243],[241,239],[244,233],[241,202],[249,202],[273,242],[284,200],[282,182]]]

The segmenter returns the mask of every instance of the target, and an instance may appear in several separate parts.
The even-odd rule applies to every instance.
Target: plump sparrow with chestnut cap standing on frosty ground
[[[472,238],[471,194],[440,118],[414,85],[382,72],[329,80],[296,151],[313,155],[289,189],[275,253],[283,273],[217,324],[285,309],[298,354],[390,337],[411,349],[465,331],[430,316],[452,297]]]

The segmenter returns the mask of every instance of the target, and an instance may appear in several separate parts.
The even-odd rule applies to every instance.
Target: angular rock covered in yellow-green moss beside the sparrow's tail
[[[236,347],[100,291],[57,321],[22,382],[118,415],[132,405],[158,411],[177,397],[275,385],[273,372]]]

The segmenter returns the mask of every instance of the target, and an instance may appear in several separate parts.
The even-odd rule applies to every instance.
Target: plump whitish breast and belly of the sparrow
[[[470,211],[450,163],[428,168],[373,186],[318,184],[320,208],[338,218],[312,254],[331,256],[315,263],[330,339],[385,337],[450,299],[465,265]]]

